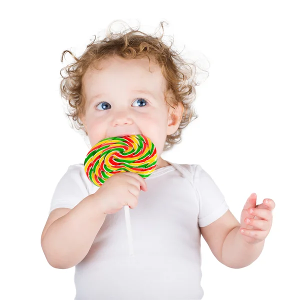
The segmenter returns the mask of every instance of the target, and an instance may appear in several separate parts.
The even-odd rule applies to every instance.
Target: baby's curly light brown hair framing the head
[[[68,113],[66,115],[74,121],[76,129],[82,129],[87,135],[88,133],[80,121],[80,117],[85,114],[86,100],[82,91],[82,77],[86,70],[91,65],[95,67],[94,63],[100,59],[114,55],[128,59],[146,56],[149,62],[152,58],[160,66],[161,73],[166,80],[164,101],[172,108],[174,108],[172,105],[177,106],[181,102],[184,108],[178,129],[173,134],[166,136],[163,151],[169,150],[174,144],[181,142],[182,129],[198,117],[192,106],[195,99],[195,86],[199,85],[198,82],[195,82],[196,72],[193,72],[192,68],[196,68],[197,65],[184,61],[179,53],[171,49],[173,41],[170,46],[162,41],[164,21],[159,23],[162,28],[162,34],[159,37],[139,31],[139,27],[133,30],[130,26],[130,30],[127,29],[128,32],[124,30],[124,32],[112,33],[113,22],[108,26],[106,37],[96,42],[94,42],[96,39],[94,38],[80,57],[75,57],[69,50],[62,52],[61,62],[66,52],[75,59],[75,62],[60,70],[63,78],[60,82],[60,95],[67,101]],[[65,70],[66,76],[61,74],[63,70]],[[171,97],[167,96],[169,92]],[[170,103],[166,98],[170,98]]]

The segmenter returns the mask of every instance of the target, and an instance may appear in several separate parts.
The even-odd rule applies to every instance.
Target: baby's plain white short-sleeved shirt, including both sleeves
[[[124,208],[107,214],[87,255],[75,266],[75,300],[201,299],[200,228],[229,208],[198,164],[155,169],[130,209],[134,256],[129,255]],[[83,163],[58,182],[50,211],[73,208],[99,187]],[[50,212],[49,211],[49,212]]]

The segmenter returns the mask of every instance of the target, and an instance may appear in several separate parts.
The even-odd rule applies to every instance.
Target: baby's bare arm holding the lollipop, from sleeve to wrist
[[[70,268],[85,257],[106,216],[98,203],[97,198],[89,195],[50,225],[46,223],[41,247],[51,266]]]

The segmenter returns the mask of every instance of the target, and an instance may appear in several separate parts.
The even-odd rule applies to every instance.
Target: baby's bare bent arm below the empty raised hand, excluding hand
[[[231,268],[252,263],[260,254],[263,242],[249,244],[238,232],[240,223],[230,210],[211,224],[201,227],[201,234],[218,261]]]

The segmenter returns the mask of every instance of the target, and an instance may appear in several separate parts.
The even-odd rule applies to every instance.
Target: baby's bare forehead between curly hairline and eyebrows
[[[162,92],[165,79],[158,64],[147,57],[126,59],[119,56],[102,59],[85,72],[82,83],[86,97],[97,92],[112,92],[115,86],[122,90],[146,89]]]

